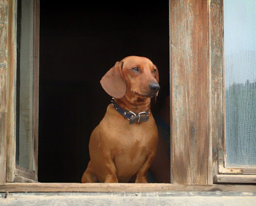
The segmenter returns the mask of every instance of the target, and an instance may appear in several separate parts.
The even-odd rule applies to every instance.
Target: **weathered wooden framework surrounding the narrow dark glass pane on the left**
[[[3,42],[7,42],[5,50],[7,51],[6,72],[2,87],[4,95],[1,99],[2,108],[2,126],[4,131],[0,134],[2,153],[0,161],[3,167],[0,169],[0,183],[3,182],[34,182],[37,181],[37,161],[38,161],[38,91],[39,91],[39,1],[34,0],[34,54],[33,54],[33,165],[34,170],[28,170],[16,165],[16,91],[17,91],[17,1],[8,1],[4,3],[8,10],[6,12],[6,33]],[[4,71],[4,70],[3,70]],[[2,144],[3,143],[3,144]],[[6,166],[5,166],[6,165]],[[2,166],[2,165],[1,165]],[[5,168],[6,167],[6,168]],[[3,169],[2,169],[3,168]]]

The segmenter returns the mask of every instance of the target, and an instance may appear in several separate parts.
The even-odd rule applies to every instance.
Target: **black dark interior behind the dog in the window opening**
[[[111,102],[99,81],[116,61],[157,65],[154,116],[169,91],[169,1],[87,2],[40,1],[39,182],[80,182],[89,136]]]

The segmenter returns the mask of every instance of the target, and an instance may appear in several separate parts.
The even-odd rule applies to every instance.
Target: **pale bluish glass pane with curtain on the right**
[[[224,1],[227,166],[256,165],[256,1]]]

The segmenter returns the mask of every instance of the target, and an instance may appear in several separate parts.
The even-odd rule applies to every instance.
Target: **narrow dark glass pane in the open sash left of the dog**
[[[19,69],[20,77],[19,95],[19,126],[16,141],[16,164],[32,169],[33,163],[33,54],[34,54],[34,5],[32,0],[22,0],[19,2],[21,9],[20,18],[20,42],[19,44]],[[18,22],[19,24],[19,22]]]

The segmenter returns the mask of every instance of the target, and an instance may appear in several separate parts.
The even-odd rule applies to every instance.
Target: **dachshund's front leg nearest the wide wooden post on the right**
[[[142,165],[142,167],[138,170],[137,172],[137,177],[135,179],[135,183],[147,183],[147,171],[153,161],[155,157],[155,153],[151,153],[146,161],[144,162],[144,164]]]

